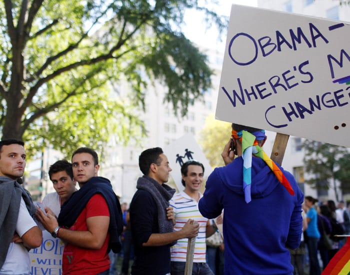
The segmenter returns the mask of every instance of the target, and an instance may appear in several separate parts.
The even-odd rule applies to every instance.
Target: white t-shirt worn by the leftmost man
[[[34,226],[36,226],[36,223],[30,216],[23,198],[21,198],[16,224],[16,232],[20,237],[22,237],[26,231]],[[29,254],[23,244],[10,242],[6,259],[1,267],[0,274],[29,274],[29,263]]]

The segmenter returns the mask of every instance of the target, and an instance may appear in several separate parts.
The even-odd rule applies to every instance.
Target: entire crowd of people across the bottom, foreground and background
[[[309,275],[320,274],[344,243],[335,235],[350,231],[348,210],[343,201],[336,207],[304,197],[292,174],[265,154],[265,140],[264,130],[232,123],[225,165],[210,173],[203,193],[201,162],[182,163],[183,190],[176,193],[166,184],[167,156],[160,147],[145,149],[129,207],[97,175],[97,153],[87,147],[50,166],[55,192],[34,205],[20,184],[24,143],[1,140],[0,274],[29,274],[39,227],[64,242],[62,274],[182,275],[189,268],[202,275],[302,275],[306,264]]]

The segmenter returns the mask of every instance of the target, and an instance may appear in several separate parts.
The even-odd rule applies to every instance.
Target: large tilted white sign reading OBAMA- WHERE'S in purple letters
[[[350,147],[350,24],[232,5],[215,118]]]

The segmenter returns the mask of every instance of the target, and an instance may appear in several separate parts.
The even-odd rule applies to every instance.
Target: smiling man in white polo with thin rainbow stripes
[[[189,217],[198,222],[199,228],[202,229],[195,238],[192,274],[212,275],[213,272],[205,259],[205,238],[212,235],[215,229],[198,210],[198,200],[202,197],[199,189],[203,181],[204,166],[199,161],[188,160],[181,166],[181,175],[184,190],[175,194],[170,200],[176,221],[174,230],[180,230]],[[171,275],[184,274],[187,243],[188,238],[182,238],[171,246]]]

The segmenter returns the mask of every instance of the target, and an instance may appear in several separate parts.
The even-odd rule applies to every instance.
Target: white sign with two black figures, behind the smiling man
[[[184,162],[195,159],[202,163],[204,166],[204,177],[207,177],[212,171],[209,161],[191,134],[186,134],[176,139],[167,145],[163,151],[172,169],[170,175],[179,191],[184,189],[181,183],[181,166]]]

